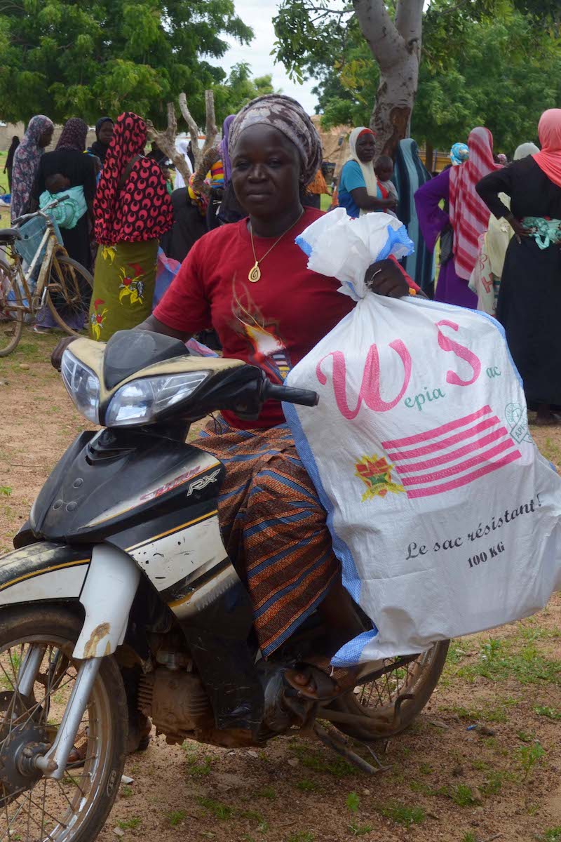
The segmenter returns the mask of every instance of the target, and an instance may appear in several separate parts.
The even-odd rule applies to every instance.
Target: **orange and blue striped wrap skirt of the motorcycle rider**
[[[250,594],[257,639],[267,657],[338,578],[325,509],[287,424],[235,429],[219,416],[193,445],[226,467],[220,529]]]

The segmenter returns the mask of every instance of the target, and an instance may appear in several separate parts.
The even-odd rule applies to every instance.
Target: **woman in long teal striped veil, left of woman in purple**
[[[415,209],[415,192],[421,184],[430,181],[431,173],[419,157],[419,147],[413,138],[400,141],[395,155],[394,182],[399,196],[397,216],[407,227],[415,244],[415,251],[402,260],[405,271],[410,274],[421,290],[432,297],[434,288],[434,258],[426,248]]]

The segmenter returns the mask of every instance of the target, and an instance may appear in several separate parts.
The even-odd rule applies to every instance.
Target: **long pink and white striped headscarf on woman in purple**
[[[454,267],[469,279],[477,262],[479,235],[487,230],[489,208],[475,191],[484,175],[501,169],[493,160],[493,136],[479,125],[468,137],[469,160],[450,170],[450,221],[454,230]]]

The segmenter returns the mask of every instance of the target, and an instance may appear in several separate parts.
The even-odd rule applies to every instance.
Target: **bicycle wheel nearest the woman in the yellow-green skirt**
[[[80,336],[92,297],[93,277],[77,260],[55,254],[50,266],[46,303],[52,317],[71,336]]]

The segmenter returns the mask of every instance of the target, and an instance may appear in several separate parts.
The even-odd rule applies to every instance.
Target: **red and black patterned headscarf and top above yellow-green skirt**
[[[130,111],[120,115],[93,200],[95,235],[103,245],[146,242],[172,227],[166,181],[158,164],[141,155],[145,144],[146,122]]]

